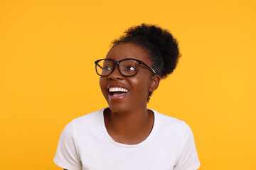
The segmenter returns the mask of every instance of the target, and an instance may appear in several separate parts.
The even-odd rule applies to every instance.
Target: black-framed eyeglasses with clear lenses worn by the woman
[[[113,72],[115,64],[117,64],[118,66],[119,73],[122,74],[122,76],[124,77],[132,77],[136,75],[139,72],[139,67],[141,64],[144,64],[146,67],[148,67],[151,70],[151,72],[156,74],[154,69],[149,67],[147,64],[145,64],[140,60],[136,60],[132,58],[126,58],[118,62],[112,59],[97,60],[95,61],[96,72],[99,76],[102,76],[102,77],[108,76]]]

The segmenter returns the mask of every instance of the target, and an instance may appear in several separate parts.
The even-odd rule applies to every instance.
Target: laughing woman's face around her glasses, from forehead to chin
[[[134,58],[152,67],[152,62],[144,48],[132,43],[112,47],[106,58],[114,61]],[[126,112],[146,107],[149,92],[154,91],[151,88],[152,77],[151,70],[145,67],[144,64],[140,65],[139,72],[133,77],[122,76],[117,65],[109,76],[100,77],[100,88],[110,106],[110,110],[112,112]],[[115,91],[116,88],[121,88],[122,92],[110,92]]]

